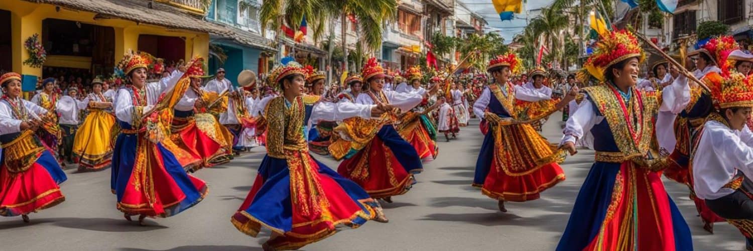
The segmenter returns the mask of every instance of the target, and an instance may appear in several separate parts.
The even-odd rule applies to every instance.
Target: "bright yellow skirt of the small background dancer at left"
[[[79,169],[102,170],[110,167],[114,125],[115,116],[108,112],[93,110],[87,115],[73,140],[73,154],[79,159]]]

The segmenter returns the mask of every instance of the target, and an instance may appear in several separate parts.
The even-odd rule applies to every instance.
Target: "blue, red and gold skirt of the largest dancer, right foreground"
[[[660,175],[630,161],[593,164],[557,250],[693,250]]]

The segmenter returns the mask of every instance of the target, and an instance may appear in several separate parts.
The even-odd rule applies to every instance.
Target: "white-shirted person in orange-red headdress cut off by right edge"
[[[753,250],[753,133],[745,126],[751,119],[753,78],[739,72],[712,75],[706,83],[714,111],[700,128],[691,180],[697,197],[738,228],[745,249]]]

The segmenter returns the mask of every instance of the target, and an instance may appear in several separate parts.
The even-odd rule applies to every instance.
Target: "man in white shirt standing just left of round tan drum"
[[[227,127],[227,129],[230,130],[231,133],[233,133],[233,152],[238,155],[238,153],[242,150],[242,147],[238,146],[238,136],[242,130],[242,127],[236,115],[237,108],[236,102],[234,100],[239,99],[239,97],[241,96],[236,88],[233,87],[233,83],[225,78],[225,69],[217,69],[215,75],[216,78],[206,83],[204,90],[213,91],[218,94],[222,94],[226,91],[228,92],[227,112],[220,114],[219,121],[220,124]]]

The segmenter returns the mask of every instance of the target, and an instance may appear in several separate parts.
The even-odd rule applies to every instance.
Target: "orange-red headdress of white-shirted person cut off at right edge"
[[[703,81],[711,89],[715,108],[753,107],[753,78],[750,76],[739,72],[730,72],[727,76],[712,72],[704,76]]]

